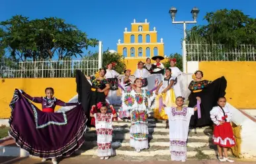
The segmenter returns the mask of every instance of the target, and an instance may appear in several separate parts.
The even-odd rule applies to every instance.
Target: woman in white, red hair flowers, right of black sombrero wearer
[[[179,70],[178,67],[175,67],[175,65],[176,65],[176,59],[175,58],[170,59],[170,65],[171,65],[171,67],[170,67],[171,68],[171,76],[173,78],[175,78],[175,80],[177,80],[177,83],[173,86],[175,97],[178,97],[178,96],[183,96],[184,97],[184,95],[181,92],[182,80],[181,80],[181,76],[179,76],[183,72],[181,72],[181,70]]]

